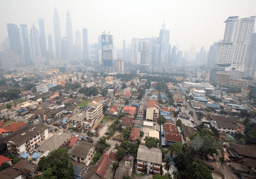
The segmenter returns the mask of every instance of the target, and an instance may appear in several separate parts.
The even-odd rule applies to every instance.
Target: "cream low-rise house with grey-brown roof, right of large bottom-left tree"
[[[75,145],[72,151],[69,153],[71,159],[78,162],[87,163],[93,158],[95,152],[94,144],[81,141]]]

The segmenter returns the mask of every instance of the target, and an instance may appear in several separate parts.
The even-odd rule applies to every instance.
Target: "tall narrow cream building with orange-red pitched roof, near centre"
[[[146,108],[146,121],[156,122],[159,117],[160,108],[157,100],[148,100]]]

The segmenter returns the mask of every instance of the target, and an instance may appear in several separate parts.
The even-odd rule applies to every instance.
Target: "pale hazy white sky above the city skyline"
[[[6,23],[28,25],[38,29],[38,18],[44,18],[46,33],[53,33],[53,13],[56,7],[60,18],[61,36],[66,36],[66,13],[69,8],[73,39],[75,31],[88,29],[89,44],[98,42],[98,35],[111,29],[113,42],[122,48],[123,39],[132,43],[133,37],[159,36],[163,20],[170,30],[170,44],[179,41],[179,50],[196,45],[209,50],[210,45],[223,38],[225,23],[229,16],[245,18],[256,14],[256,0],[1,0],[0,43],[8,36]],[[164,16],[165,14],[165,16]],[[113,25],[112,25],[113,24]],[[112,28],[111,28],[112,26]],[[54,37],[53,37],[54,46]],[[48,48],[48,47],[47,47]]]

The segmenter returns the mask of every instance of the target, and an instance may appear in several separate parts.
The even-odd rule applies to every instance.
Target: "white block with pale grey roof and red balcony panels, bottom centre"
[[[140,145],[137,153],[136,173],[143,173],[146,170],[149,174],[160,174],[162,165],[162,153],[159,148],[149,149],[145,145]]]

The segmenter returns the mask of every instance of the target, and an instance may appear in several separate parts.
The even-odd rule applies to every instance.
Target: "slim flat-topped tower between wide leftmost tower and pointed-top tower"
[[[26,60],[26,64],[29,64],[31,60],[30,56],[30,47],[29,47],[29,40],[28,40],[28,27],[26,24],[20,24],[20,31],[21,31],[21,39],[23,44],[23,56]]]

